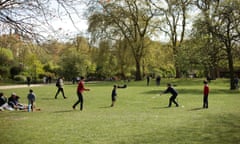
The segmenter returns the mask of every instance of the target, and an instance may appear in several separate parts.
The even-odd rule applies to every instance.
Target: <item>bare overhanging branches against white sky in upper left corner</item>
[[[53,31],[50,20],[68,17],[76,30],[73,15],[80,17],[79,6],[84,0],[1,0],[1,34],[17,33],[22,38],[32,39],[41,32]],[[53,31],[54,32],[54,31]]]

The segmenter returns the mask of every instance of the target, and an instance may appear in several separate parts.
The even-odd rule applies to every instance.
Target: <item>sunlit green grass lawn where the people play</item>
[[[180,107],[166,108],[170,94],[159,96],[166,83],[176,85]],[[123,84],[119,82],[118,84]],[[76,85],[65,85],[68,99],[54,99],[54,85],[34,87],[39,112],[0,112],[4,144],[236,144],[240,142],[240,94],[226,79],[210,83],[209,109],[202,109],[202,79],[130,82],[118,89],[110,108],[113,83],[86,83],[84,110],[72,110]],[[16,92],[27,103],[27,88]],[[184,107],[183,107],[184,106]]]

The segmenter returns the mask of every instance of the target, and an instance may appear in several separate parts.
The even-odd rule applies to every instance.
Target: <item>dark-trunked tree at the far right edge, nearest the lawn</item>
[[[236,49],[240,42],[240,2],[237,0],[217,1],[215,9],[209,9],[212,3],[202,2],[200,4],[208,6],[208,9],[206,9],[206,7],[199,5],[199,8],[201,8],[205,15],[212,12],[212,17],[205,17],[206,25],[209,32],[224,44],[224,50],[228,59],[230,89],[235,89],[233,50]]]

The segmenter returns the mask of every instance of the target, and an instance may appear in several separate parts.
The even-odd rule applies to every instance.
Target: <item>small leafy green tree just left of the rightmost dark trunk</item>
[[[224,45],[208,30],[205,16],[194,21],[191,36],[189,44],[195,48],[195,54],[199,55],[196,58],[200,60],[198,65],[204,70],[204,76],[216,79],[219,77],[220,62],[227,57]]]

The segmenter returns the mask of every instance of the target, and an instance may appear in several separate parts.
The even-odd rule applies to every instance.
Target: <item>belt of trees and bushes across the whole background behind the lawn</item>
[[[53,1],[0,1],[0,79],[208,76],[228,77],[235,89],[233,80],[240,76],[238,0],[58,0],[57,8],[73,24],[77,6],[86,6],[87,36],[65,40],[46,38],[36,28],[49,25],[53,15],[61,17],[63,12],[47,6]]]

